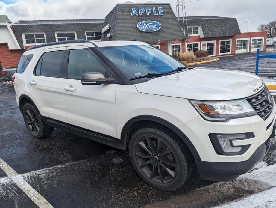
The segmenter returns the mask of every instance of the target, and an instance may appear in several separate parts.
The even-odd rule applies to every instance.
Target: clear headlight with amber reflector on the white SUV
[[[210,121],[225,122],[233,118],[257,115],[245,99],[230,101],[190,100],[201,116]]]

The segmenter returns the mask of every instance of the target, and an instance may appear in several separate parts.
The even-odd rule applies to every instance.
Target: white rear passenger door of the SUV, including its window
[[[66,47],[45,49],[28,76],[29,92],[42,116],[66,122],[61,77]]]

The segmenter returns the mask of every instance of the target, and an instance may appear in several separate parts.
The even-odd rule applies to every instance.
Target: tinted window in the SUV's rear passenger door
[[[63,63],[64,51],[51,51],[43,53],[34,74],[42,76],[60,77],[60,67]]]

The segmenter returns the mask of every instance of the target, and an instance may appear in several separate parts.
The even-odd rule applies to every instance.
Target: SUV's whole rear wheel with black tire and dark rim
[[[34,138],[44,138],[54,131],[53,127],[43,122],[39,111],[31,103],[25,103],[23,106],[23,117],[28,131]]]

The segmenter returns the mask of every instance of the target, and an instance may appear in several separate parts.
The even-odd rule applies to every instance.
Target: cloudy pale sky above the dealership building
[[[0,0],[0,14],[12,22],[43,19],[104,19],[116,3],[126,0]],[[133,0],[144,3],[148,0]],[[152,0],[170,3],[176,0]],[[188,2],[193,1],[193,2]],[[256,31],[261,23],[276,20],[276,0],[186,0],[187,16],[227,16],[238,20],[242,32]],[[244,24],[245,23],[245,24]]]

